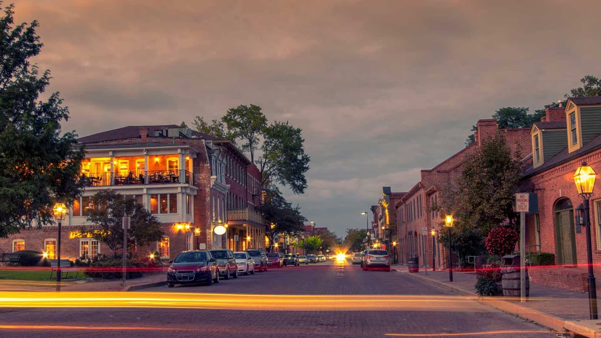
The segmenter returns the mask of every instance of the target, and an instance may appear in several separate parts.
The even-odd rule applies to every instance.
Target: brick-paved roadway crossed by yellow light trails
[[[156,287],[165,293],[214,292],[266,295],[432,295],[452,293],[395,272],[364,272],[349,263],[270,269],[212,286]],[[132,293],[133,294],[133,293]],[[175,294],[173,294],[175,295]],[[370,302],[370,297],[365,297]],[[468,337],[554,337],[544,328],[498,310],[468,301],[456,309],[437,309],[434,300],[424,309],[388,311],[290,311],[204,309],[17,309],[0,310],[0,337],[385,337],[385,334],[472,333]],[[472,304],[473,303],[473,304]],[[385,309],[385,304],[382,308]],[[469,309],[468,309],[469,308]],[[5,325],[17,325],[7,328]],[[24,326],[23,326],[24,325]],[[64,325],[31,329],[27,325]],[[71,328],[67,328],[71,327]],[[86,328],[73,328],[86,327]],[[91,330],[87,327],[101,328]],[[128,327],[125,329],[124,327]],[[119,328],[119,329],[117,329]],[[151,329],[148,328],[162,328]],[[144,330],[146,329],[146,330]],[[535,333],[473,334],[516,330]]]

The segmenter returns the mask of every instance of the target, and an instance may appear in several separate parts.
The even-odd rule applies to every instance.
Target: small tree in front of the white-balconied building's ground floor
[[[117,253],[123,248],[123,216],[130,215],[130,230],[127,230],[128,241],[134,241],[137,245],[146,245],[159,241],[163,232],[160,222],[156,216],[141,204],[136,204],[135,198],[129,195],[121,195],[112,190],[97,192],[92,198],[93,208],[87,220],[100,227],[100,231],[81,229],[84,236],[105,242],[106,245]]]

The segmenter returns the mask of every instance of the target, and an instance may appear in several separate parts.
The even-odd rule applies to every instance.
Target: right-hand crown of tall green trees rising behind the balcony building
[[[264,128],[261,156],[257,160],[261,171],[261,186],[279,183],[288,186],[295,194],[307,188],[305,173],[311,158],[305,153],[302,129],[288,122],[275,122]]]

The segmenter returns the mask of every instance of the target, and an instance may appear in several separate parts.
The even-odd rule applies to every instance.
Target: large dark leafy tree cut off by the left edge
[[[14,25],[13,8],[0,17],[0,237],[52,223],[53,204],[71,203],[84,188],[84,151],[72,149],[74,132],[61,135],[69,109],[58,92],[40,99],[50,72],[29,61],[43,46],[38,22]]]

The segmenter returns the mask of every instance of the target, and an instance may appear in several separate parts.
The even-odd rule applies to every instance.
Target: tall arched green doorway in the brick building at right
[[[557,263],[576,265],[576,238],[574,235],[574,206],[570,198],[562,197],[555,202],[555,243]]]

